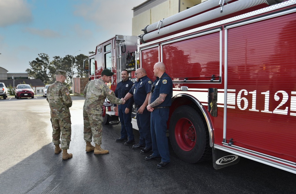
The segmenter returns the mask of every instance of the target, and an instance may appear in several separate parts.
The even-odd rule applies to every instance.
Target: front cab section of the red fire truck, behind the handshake
[[[137,36],[115,35],[96,46],[96,52],[84,60],[84,71],[89,74],[89,80],[99,79],[103,69],[110,69],[115,75],[111,83],[106,83],[113,91],[121,81],[121,71],[129,70],[130,79],[135,82]],[[107,99],[102,107],[103,124],[118,124],[118,114],[112,111]],[[138,129],[136,119],[133,127]]]

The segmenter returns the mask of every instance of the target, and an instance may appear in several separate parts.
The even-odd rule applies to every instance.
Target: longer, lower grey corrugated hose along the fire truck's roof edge
[[[281,3],[283,0],[239,0],[233,3],[227,4],[223,6],[223,12],[221,12],[220,8],[216,8],[205,13],[199,14],[197,16],[185,19],[183,21],[177,22],[175,24],[169,25],[167,27],[160,28],[157,31],[150,32],[148,34],[144,34],[140,37],[142,43],[149,42],[151,39],[155,39],[157,37],[163,36],[165,34],[170,34],[172,32],[176,32],[182,29],[186,29],[188,27],[192,27],[194,25],[207,22],[219,17],[223,17],[237,11],[241,11],[244,9],[248,9],[250,7],[254,7],[260,4],[276,4]]]

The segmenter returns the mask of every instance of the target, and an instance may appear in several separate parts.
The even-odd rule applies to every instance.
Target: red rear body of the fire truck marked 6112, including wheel
[[[226,2],[151,24],[138,40],[148,77],[161,61],[173,80],[173,150],[215,169],[245,157],[296,173],[296,0]]]

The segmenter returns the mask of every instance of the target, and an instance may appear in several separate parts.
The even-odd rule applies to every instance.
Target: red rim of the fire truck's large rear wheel
[[[179,147],[184,151],[194,148],[196,142],[195,129],[189,119],[181,118],[175,126],[175,138]]]

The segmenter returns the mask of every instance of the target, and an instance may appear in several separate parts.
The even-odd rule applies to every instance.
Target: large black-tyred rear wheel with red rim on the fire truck
[[[176,108],[170,118],[169,135],[174,152],[186,162],[201,162],[212,156],[209,132],[194,106]]]

